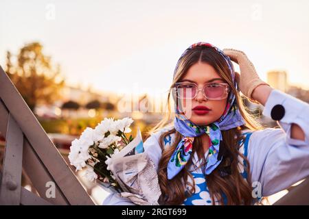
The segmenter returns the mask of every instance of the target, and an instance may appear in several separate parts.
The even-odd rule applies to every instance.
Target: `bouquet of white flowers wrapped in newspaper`
[[[155,165],[144,153],[141,133],[127,137],[131,118],[104,118],[79,139],[73,140],[69,161],[76,171],[86,167],[84,176],[97,180],[109,192],[117,192],[139,205],[157,205],[161,194]]]

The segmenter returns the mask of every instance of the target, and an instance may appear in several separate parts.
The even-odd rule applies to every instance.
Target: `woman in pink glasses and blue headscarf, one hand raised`
[[[262,128],[239,89],[279,128]],[[168,105],[144,142],[162,205],[252,205],[309,175],[309,105],[262,81],[242,51],[192,44],[176,64],[168,104],[170,94],[172,124]],[[103,204],[132,203],[111,194]]]

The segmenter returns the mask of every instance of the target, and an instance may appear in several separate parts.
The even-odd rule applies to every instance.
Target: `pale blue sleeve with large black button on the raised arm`
[[[253,131],[247,158],[252,182],[260,185],[262,196],[269,196],[309,175],[309,105],[272,90],[263,115],[277,120],[279,128]],[[304,131],[305,140],[290,137],[293,123]]]

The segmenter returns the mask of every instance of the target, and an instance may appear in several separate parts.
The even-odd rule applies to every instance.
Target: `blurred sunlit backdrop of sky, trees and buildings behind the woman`
[[[66,160],[71,141],[104,117],[130,116],[133,136],[137,127],[145,135],[163,117],[176,62],[194,42],[244,51],[264,81],[309,103],[306,0],[2,0],[0,10],[0,65]],[[262,105],[245,103],[277,126]],[[100,205],[108,193],[78,177]]]

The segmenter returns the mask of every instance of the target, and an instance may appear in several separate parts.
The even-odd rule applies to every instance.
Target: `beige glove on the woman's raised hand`
[[[223,49],[223,53],[228,55],[231,60],[236,62],[240,67],[240,74],[236,73],[235,76],[242,94],[249,97],[249,99],[252,99],[251,95],[256,87],[261,84],[266,84],[269,86],[268,83],[260,79],[252,62],[248,59],[244,52],[236,49]]]

